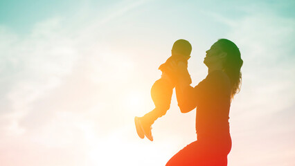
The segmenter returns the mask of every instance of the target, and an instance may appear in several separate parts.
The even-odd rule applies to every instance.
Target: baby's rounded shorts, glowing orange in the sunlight
[[[170,108],[172,93],[174,86],[168,80],[160,78],[152,85],[151,95],[152,101],[156,108],[168,110]]]

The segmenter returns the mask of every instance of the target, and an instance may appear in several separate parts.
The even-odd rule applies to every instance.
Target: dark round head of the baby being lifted
[[[192,45],[185,39],[177,40],[171,50],[172,55],[183,55],[185,57],[190,57],[190,52],[192,52]]]

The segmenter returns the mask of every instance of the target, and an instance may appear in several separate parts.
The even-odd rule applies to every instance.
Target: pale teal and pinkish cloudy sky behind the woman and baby
[[[231,103],[234,165],[295,165],[295,1],[0,1],[0,165],[165,165],[195,141],[195,111],[176,96],[138,138],[134,116],[172,44],[193,46],[192,86],[205,51],[240,48]]]

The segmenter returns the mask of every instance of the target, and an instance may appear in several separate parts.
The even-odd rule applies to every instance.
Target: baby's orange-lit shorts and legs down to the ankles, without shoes
[[[151,95],[156,108],[143,116],[143,120],[147,124],[152,125],[157,118],[164,116],[168,109],[170,109],[173,88],[174,86],[163,78],[154,82]]]

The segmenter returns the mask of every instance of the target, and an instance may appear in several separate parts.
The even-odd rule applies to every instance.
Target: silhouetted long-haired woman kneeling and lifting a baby
[[[229,108],[233,95],[240,91],[243,61],[239,48],[229,39],[219,39],[206,51],[204,64],[208,75],[195,88],[184,62],[171,64],[177,74],[177,102],[181,113],[197,107],[197,140],[181,149],[166,166],[171,165],[227,165],[231,151]]]

